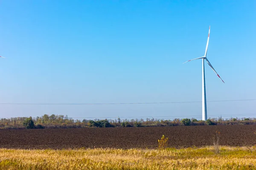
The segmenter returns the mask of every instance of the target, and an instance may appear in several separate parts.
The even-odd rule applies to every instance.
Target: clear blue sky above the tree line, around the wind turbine
[[[0,0],[0,103],[256,99],[255,0]],[[208,102],[211,115],[256,101]],[[0,117],[198,117],[201,103],[0,105]],[[230,116],[228,116],[230,117]],[[239,116],[249,117],[249,116]],[[253,117],[253,116],[250,116]]]

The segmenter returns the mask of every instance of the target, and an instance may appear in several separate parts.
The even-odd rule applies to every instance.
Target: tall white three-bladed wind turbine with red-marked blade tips
[[[208,49],[208,44],[209,44],[209,37],[210,37],[210,26],[209,26],[209,33],[208,33],[208,39],[207,39],[207,44],[206,44],[206,49],[203,57],[195,58],[195,59],[202,59],[202,80],[203,80],[203,94],[202,94],[202,120],[207,120],[207,107],[206,107],[206,90],[205,90],[205,75],[204,75],[204,60],[208,63],[208,65],[212,68],[212,70],[217,74],[217,76],[221,79],[221,77],[218,75],[218,73],[215,71],[215,69],[212,67],[211,63],[209,60],[206,58],[207,55],[207,49]],[[189,61],[195,60],[195,59],[190,59]],[[186,61],[186,62],[189,62]],[[184,62],[184,63],[186,63]],[[184,64],[183,63],[183,64]],[[223,79],[221,79],[222,82]],[[224,82],[225,83],[225,82]]]

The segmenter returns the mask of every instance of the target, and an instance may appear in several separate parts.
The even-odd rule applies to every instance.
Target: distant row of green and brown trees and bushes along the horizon
[[[47,115],[32,117],[14,117],[0,119],[0,129],[34,128],[80,128],[80,127],[148,127],[148,126],[195,126],[195,125],[249,125],[256,124],[256,118],[210,118],[207,121],[191,119],[105,119],[79,120],[67,115]]]

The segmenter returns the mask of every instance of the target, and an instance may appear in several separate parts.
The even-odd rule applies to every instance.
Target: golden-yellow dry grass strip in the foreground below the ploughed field
[[[253,150],[253,149],[252,149]],[[256,170],[247,147],[157,149],[0,149],[1,170]]]

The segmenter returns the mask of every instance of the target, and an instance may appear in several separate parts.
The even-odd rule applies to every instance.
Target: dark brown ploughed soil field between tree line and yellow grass
[[[157,139],[169,138],[169,147],[212,145],[218,130],[220,144],[251,146],[256,144],[256,125],[175,126],[175,127],[109,127],[77,129],[0,130],[2,148],[157,148]]]

